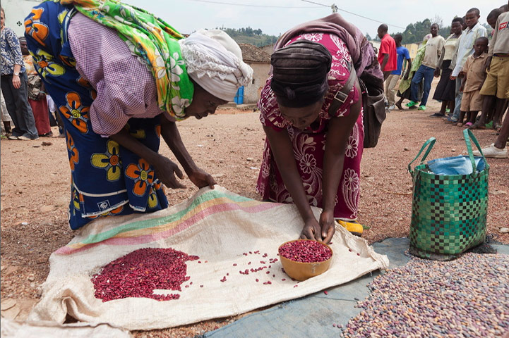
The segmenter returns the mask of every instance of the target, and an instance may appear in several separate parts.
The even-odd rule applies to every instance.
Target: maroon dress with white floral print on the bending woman
[[[343,87],[348,80],[348,65],[352,62],[345,42],[336,35],[311,33],[294,37],[288,44],[299,40],[307,39],[323,44],[333,56],[333,62],[328,73],[329,90],[325,94],[325,101],[321,108],[317,123],[313,123],[306,130],[298,130],[285,120],[277,106],[277,101],[268,78],[265,87],[261,92],[261,99],[258,101],[260,108],[260,121],[265,127],[272,127],[274,130],[286,129],[294,149],[297,170],[304,184],[304,192],[311,206],[322,207],[323,196],[323,158],[325,154],[325,142],[327,139],[328,122],[331,116],[328,113],[330,103],[334,95]],[[336,118],[342,118],[350,113],[350,106],[360,99],[361,93],[352,88],[345,104],[335,112]],[[347,149],[345,150],[345,161],[343,164],[341,180],[337,188],[334,217],[347,220],[357,219],[357,204],[359,202],[359,176],[360,164],[363,151],[364,129],[362,124],[362,113],[355,123],[348,138]],[[277,201],[280,203],[292,203],[292,196],[285,187],[280,172],[275,163],[275,158],[270,150],[268,140],[265,140],[263,150],[263,161],[258,184],[258,193],[263,199]]]

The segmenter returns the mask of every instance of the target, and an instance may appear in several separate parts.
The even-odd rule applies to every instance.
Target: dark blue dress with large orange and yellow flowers
[[[35,70],[64,121],[71,168],[69,225],[76,230],[100,217],[158,211],[168,201],[147,161],[92,130],[90,106],[97,92],[76,69],[67,39],[73,13],[73,6],[45,1],[25,18],[25,37]],[[126,129],[158,151],[160,115],[131,118]]]

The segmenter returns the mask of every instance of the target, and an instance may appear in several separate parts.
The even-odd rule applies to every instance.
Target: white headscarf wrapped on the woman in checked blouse
[[[198,30],[179,44],[189,77],[220,99],[233,101],[253,78],[239,45],[222,30]]]

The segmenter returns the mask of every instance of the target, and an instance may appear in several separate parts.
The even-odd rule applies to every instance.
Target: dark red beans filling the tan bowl
[[[312,240],[288,242],[280,246],[279,253],[280,256],[300,263],[323,262],[333,255],[325,244]]]

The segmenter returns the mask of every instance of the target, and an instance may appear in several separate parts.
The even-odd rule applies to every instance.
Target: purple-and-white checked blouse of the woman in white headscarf
[[[157,106],[154,77],[115,30],[77,13],[69,24],[68,39],[76,69],[97,90],[90,107],[94,132],[107,137],[119,132],[130,118],[164,113]]]

